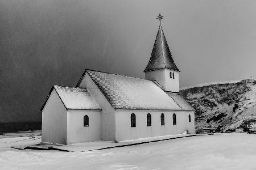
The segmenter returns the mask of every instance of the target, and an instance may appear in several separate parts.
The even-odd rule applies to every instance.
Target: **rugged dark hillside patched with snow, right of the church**
[[[196,109],[197,130],[211,126],[245,131],[248,122],[255,128],[256,79],[201,84],[183,88],[180,94]]]

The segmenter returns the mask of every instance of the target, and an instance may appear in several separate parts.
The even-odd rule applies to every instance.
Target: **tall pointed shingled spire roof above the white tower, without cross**
[[[158,34],[156,35],[150,61],[148,62],[144,72],[165,68],[180,71],[174,63],[174,59],[172,58],[172,54],[168,47],[166,37],[164,36],[163,29],[161,25],[159,25]]]

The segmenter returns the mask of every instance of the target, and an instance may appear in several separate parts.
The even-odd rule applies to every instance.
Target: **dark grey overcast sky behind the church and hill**
[[[144,77],[159,22],[180,87],[256,76],[256,1],[0,1],[0,121],[40,121],[85,68]]]

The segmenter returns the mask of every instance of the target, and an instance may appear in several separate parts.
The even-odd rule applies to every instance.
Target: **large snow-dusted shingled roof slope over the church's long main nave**
[[[114,109],[182,110],[150,80],[86,70]]]

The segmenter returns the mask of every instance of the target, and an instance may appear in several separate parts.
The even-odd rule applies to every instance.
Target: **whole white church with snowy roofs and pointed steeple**
[[[52,86],[41,108],[42,143],[195,133],[195,110],[179,94],[179,73],[159,25],[145,79],[85,69],[76,87]]]

